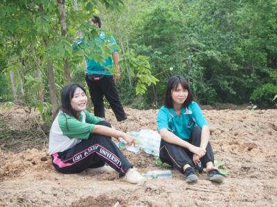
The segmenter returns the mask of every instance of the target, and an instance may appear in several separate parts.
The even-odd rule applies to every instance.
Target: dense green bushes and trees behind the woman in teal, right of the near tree
[[[276,6],[277,1],[125,1],[123,12],[102,17],[122,39],[121,47],[149,57],[160,80],[138,106],[161,105],[168,78],[184,75],[202,104],[251,100],[274,108]],[[262,95],[256,95],[259,88]],[[123,99],[127,91],[123,85]]]

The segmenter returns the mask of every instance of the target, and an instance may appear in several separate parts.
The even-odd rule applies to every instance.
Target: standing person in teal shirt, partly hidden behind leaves
[[[91,24],[101,28],[100,18],[93,16],[93,19],[91,19]],[[98,62],[95,59],[85,57],[87,61],[86,81],[87,86],[89,87],[91,101],[94,106],[94,115],[96,115],[96,117],[105,118],[105,107],[103,99],[105,96],[107,101],[109,101],[111,109],[114,111],[114,115],[116,115],[117,121],[124,121],[127,119],[127,115],[125,114],[123,106],[120,103],[115,84],[115,82],[119,81],[120,79],[120,66],[118,66],[118,47],[114,37],[112,35],[106,37],[104,32],[100,32],[99,36],[91,41],[81,39],[78,41],[78,47],[75,47],[74,49],[85,49],[86,47],[90,47],[90,45],[100,45],[104,42],[108,42],[113,47],[112,54],[109,55],[109,57],[105,57],[104,61]],[[114,74],[111,72],[113,66],[117,70],[114,72]]]

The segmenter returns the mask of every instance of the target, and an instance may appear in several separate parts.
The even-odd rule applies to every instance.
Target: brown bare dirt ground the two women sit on
[[[126,111],[128,121],[116,122],[111,110],[107,120],[124,131],[156,130],[157,110]],[[0,138],[0,206],[277,206],[277,110],[203,112],[215,159],[229,170],[223,184],[211,184],[202,173],[197,184],[188,185],[177,170],[172,170],[172,179],[137,185],[120,181],[116,172],[62,175],[51,166],[47,140],[39,135],[37,121],[30,121],[28,109],[0,110],[2,132],[10,127],[25,135],[35,128],[33,135],[41,136],[30,149],[26,146],[34,145],[23,144],[28,137],[20,137],[19,143],[14,134],[7,135],[11,141]],[[158,169],[152,155],[123,152],[141,172]]]

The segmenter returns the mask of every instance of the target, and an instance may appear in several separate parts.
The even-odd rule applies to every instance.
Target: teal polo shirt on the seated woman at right
[[[166,128],[177,137],[188,140],[190,133],[195,126],[202,128],[208,126],[199,105],[192,101],[187,108],[181,108],[181,115],[178,117],[173,108],[162,106],[157,115],[158,130]]]

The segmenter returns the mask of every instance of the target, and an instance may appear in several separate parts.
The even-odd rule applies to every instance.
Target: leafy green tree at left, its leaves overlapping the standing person
[[[111,9],[122,4],[122,1],[98,2]],[[74,68],[75,63],[82,61],[82,55],[74,53],[71,47],[75,34],[79,31],[84,36],[93,35],[89,19],[96,12],[95,1],[83,0],[78,3],[80,10],[75,10],[73,1],[0,3],[0,34],[4,46],[1,56],[7,60],[1,66],[2,72],[15,70],[13,66],[20,63],[29,66],[29,70],[24,73],[28,84],[31,81],[44,83],[44,87],[39,87],[39,90],[45,89],[44,100],[51,101],[53,111],[57,108],[56,90],[64,85],[65,77],[69,82],[69,68]],[[59,28],[62,28],[61,31]],[[41,79],[30,78],[35,77],[37,70],[41,72]],[[48,83],[43,79],[47,79]]]

